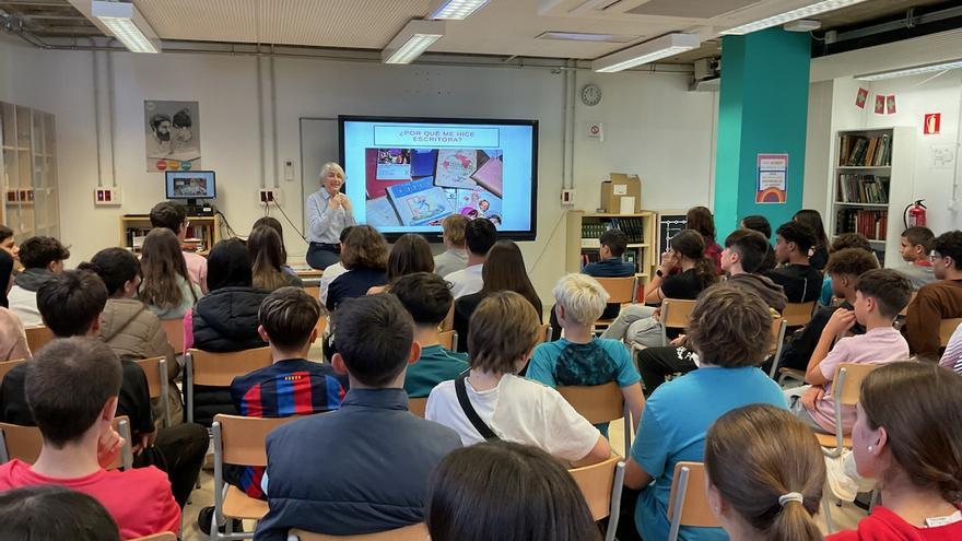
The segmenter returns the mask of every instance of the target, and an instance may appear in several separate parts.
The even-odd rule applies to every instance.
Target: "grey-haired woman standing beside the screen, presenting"
[[[341,193],[344,169],[328,162],[320,168],[320,189],[307,196],[307,264],[324,270],[340,261],[341,230],[357,225],[348,196]]]

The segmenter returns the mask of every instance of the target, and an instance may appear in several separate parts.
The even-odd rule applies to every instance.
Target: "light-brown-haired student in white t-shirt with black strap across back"
[[[539,324],[531,303],[517,293],[482,301],[468,336],[471,369],[431,391],[425,419],[453,428],[465,445],[498,438],[579,466],[606,460],[611,448],[591,423],[556,390],[517,376],[538,343]],[[458,400],[458,385],[474,421]]]

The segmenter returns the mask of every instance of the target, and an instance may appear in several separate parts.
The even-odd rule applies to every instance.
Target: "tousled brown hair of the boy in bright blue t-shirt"
[[[688,340],[699,357],[726,368],[762,364],[771,336],[772,313],[762,297],[724,283],[699,295],[688,327]]]

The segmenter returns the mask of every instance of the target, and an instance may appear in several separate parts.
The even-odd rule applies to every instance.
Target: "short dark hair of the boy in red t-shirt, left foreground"
[[[101,340],[62,338],[40,348],[26,364],[24,393],[44,442],[61,449],[80,439],[121,380],[120,360]]]

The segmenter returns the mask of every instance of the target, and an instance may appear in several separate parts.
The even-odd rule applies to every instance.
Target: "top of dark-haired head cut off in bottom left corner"
[[[99,502],[56,484],[0,493],[0,541],[120,541],[117,524]]]

